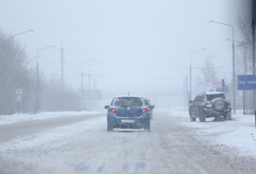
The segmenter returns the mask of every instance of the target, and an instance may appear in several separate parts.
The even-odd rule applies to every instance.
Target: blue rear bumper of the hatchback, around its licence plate
[[[132,123],[122,122],[122,120],[132,120]],[[107,122],[113,128],[144,128],[150,124],[150,114],[142,114],[140,117],[117,117],[114,114],[108,114]]]

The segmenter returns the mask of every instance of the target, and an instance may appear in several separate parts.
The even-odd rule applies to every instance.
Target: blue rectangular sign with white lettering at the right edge
[[[237,75],[238,90],[256,90],[256,75]]]

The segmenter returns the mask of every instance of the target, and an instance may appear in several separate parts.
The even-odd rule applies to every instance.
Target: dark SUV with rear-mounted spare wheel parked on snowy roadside
[[[219,116],[231,120],[231,106],[224,92],[200,93],[194,101],[190,100],[189,103],[191,103],[189,106],[191,121],[199,118],[204,122],[205,118],[219,118]]]

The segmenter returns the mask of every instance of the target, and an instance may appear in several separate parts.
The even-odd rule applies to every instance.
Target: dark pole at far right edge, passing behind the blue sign
[[[253,0],[253,10],[252,10],[252,48],[253,48],[253,74],[256,74],[255,69],[255,31],[254,31],[254,0]],[[256,110],[256,91],[253,90],[253,106],[254,111]]]

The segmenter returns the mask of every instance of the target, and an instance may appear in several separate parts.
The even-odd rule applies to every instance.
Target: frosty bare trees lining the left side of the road
[[[0,30],[0,115],[36,112],[36,68],[30,66],[25,47]],[[40,80],[40,111],[79,111],[81,97],[78,91],[63,86],[58,80]],[[16,89],[21,88],[21,101],[17,101]],[[61,89],[61,90],[60,90]]]

